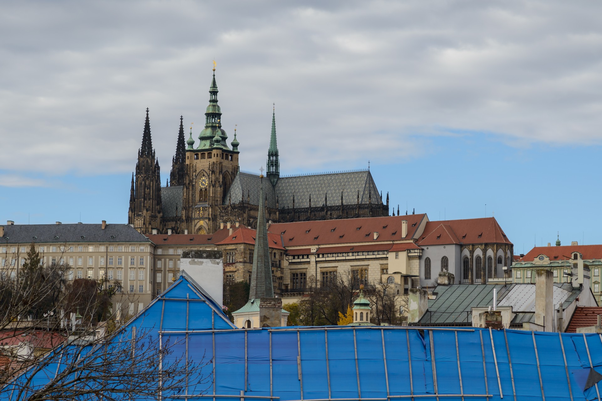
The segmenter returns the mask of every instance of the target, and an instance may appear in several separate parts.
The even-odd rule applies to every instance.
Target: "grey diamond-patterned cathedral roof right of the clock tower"
[[[265,183],[268,185],[265,186]],[[223,199],[223,204],[228,204],[228,197],[232,203],[247,200],[247,191],[250,191],[250,203],[259,204],[259,176],[248,173],[238,173],[228,194]],[[280,209],[293,207],[309,207],[309,195],[312,206],[323,206],[324,195],[327,194],[329,205],[341,204],[343,192],[344,204],[368,203],[371,194],[372,203],[380,203],[380,192],[376,188],[372,174],[369,170],[348,171],[345,173],[307,174],[303,176],[281,177],[276,182],[276,187],[264,179],[264,191],[267,194],[267,206],[276,207],[276,197]]]

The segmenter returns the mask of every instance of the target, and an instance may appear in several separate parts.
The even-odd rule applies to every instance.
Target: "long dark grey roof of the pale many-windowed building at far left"
[[[150,242],[131,225],[107,224],[103,230],[100,223],[5,225],[2,239],[8,243]]]

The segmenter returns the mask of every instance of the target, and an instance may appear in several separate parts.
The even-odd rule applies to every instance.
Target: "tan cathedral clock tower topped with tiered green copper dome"
[[[238,174],[238,141],[228,147],[228,135],[222,129],[222,111],[217,104],[215,62],[209,87],[209,105],[205,111],[205,127],[194,148],[192,128],[185,152],[183,212],[189,233],[210,234],[217,230],[219,206]]]

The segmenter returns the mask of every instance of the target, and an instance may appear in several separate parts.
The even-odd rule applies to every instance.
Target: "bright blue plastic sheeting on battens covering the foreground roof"
[[[176,344],[164,366],[186,350],[190,361],[203,364],[201,380],[179,378],[185,397],[163,393],[164,400],[581,401],[598,399],[602,390],[595,385],[584,391],[582,378],[590,367],[602,372],[599,334],[395,326],[234,329],[187,277],[121,335],[131,335],[134,326]],[[53,364],[36,373],[32,390],[60,369]],[[7,388],[0,398],[16,400]]]

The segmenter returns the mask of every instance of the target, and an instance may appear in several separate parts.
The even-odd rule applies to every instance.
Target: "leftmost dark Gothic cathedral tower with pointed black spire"
[[[129,194],[128,224],[134,224],[134,228],[140,233],[150,234],[153,229],[161,228],[161,214],[161,174],[155,150],[152,148],[151,123],[147,108],[135,180],[132,176]]]

